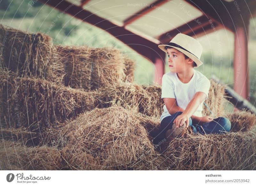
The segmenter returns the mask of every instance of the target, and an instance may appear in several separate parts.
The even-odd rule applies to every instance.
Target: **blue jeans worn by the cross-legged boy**
[[[171,116],[165,117],[160,124],[160,129],[158,130],[158,134],[154,136],[153,143],[157,144],[159,141],[165,138],[165,133],[167,130],[172,128],[173,121],[177,118],[178,115],[182,114],[182,112],[176,112]],[[213,119],[209,123],[198,124],[196,120],[192,120],[189,118],[189,126],[193,133],[200,134],[225,134],[230,131],[231,123],[228,118],[219,117]]]

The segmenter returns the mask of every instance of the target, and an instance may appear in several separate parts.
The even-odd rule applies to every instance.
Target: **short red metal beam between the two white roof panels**
[[[146,6],[145,8],[143,8],[142,10],[140,10],[139,12],[134,13],[131,17],[127,18],[124,20],[124,26],[131,24],[133,21],[139,19],[140,17],[142,17],[143,15],[146,15],[147,13],[151,12],[152,10],[155,9],[155,6],[160,6],[164,3],[167,3],[168,1],[166,0],[157,0],[156,2],[150,4],[149,6]],[[153,5],[153,6],[152,6]]]

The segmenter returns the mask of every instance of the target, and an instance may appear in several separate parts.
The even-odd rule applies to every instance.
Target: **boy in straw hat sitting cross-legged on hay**
[[[153,143],[181,137],[188,127],[193,133],[200,134],[229,132],[231,123],[228,118],[202,117],[203,102],[210,89],[210,81],[194,69],[203,64],[199,60],[202,45],[196,39],[180,33],[170,43],[158,47],[168,55],[170,72],[162,78],[164,112]]]

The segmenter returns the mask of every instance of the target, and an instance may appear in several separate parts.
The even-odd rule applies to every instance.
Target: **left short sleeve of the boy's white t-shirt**
[[[163,75],[162,77],[162,96],[161,98],[176,98],[174,94],[174,84],[171,77]]]

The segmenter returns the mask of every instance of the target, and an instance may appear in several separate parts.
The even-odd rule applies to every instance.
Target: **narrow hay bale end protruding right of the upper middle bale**
[[[134,79],[134,68],[135,68],[135,61],[129,57],[124,57],[124,82],[133,82]]]

